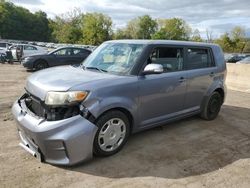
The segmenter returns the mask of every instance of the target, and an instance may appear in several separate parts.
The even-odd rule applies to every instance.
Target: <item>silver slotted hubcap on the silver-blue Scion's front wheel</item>
[[[98,144],[103,151],[113,151],[123,142],[126,135],[126,125],[120,118],[107,121],[98,135]]]

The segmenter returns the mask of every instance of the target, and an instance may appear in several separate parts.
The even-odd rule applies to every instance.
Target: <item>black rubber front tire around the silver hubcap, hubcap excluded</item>
[[[107,122],[109,122],[110,120],[115,119],[115,118],[118,118],[124,122],[125,127],[126,127],[125,137],[123,138],[123,140],[121,141],[119,146],[117,146],[116,149],[114,149],[112,151],[104,151],[101,148],[101,139],[99,138],[99,134],[100,134],[101,130],[103,130],[105,128],[104,126],[107,125]],[[124,146],[124,144],[127,142],[129,134],[130,134],[130,123],[129,123],[128,117],[123,112],[121,112],[119,110],[112,110],[112,111],[108,111],[107,113],[101,115],[97,119],[95,124],[98,126],[98,130],[96,132],[95,139],[94,139],[94,145],[93,145],[94,155],[96,155],[96,156],[110,156],[110,155],[113,155],[113,154],[117,153],[118,151],[120,151],[122,149],[122,147]],[[119,140],[118,140],[118,142],[119,142]]]

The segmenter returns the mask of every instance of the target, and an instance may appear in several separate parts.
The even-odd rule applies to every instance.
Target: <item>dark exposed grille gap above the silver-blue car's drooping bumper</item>
[[[48,121],[62,120],[80,114],[79,104],[71,106],[48,106],[40,99],[26,94],[24,97],[26,107],[36,116]]]

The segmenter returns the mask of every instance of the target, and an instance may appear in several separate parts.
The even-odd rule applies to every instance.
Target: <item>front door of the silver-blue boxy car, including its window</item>
[[[186,76],[184,48],[161,46],[151,52],[148,64],[161,64],[164,72],[139,77],[140,126],[153,126],[183,112]]]

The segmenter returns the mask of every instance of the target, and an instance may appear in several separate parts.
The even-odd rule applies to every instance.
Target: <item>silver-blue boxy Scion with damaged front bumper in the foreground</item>
[[[80,66],[27,79],[12,108],[19,145],[57,165],[112,155],[132,133],[195,114],[215,119],[225,77],[223,52],[215,44],[108,41]]]

